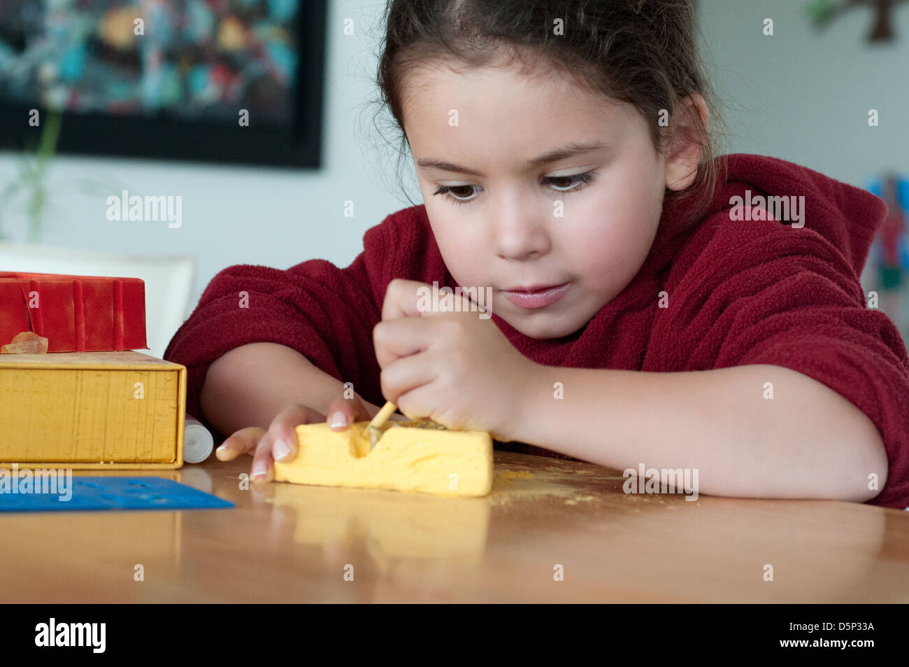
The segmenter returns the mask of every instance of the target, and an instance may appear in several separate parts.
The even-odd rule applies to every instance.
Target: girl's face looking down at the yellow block
[[[574,333],[628,285],[665,187],[684,187],[634,107],[566,78],[422,67],[404,114],[445,265],[534,339]],[[564,287],[515,293],[543,286]]]

